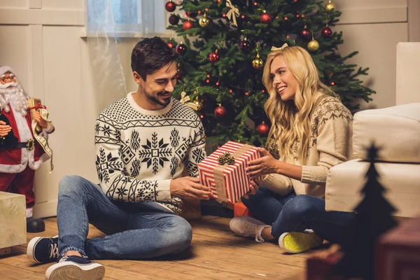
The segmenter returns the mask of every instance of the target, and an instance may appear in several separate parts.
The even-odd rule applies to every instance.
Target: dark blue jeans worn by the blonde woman
[[[325,200],[311,195],[277,195],[264,186],[255,195],[242,202],[253,217],[272,225],[272,236],[279,238],[283,232],[303,232],[311,229],[332,243],[346,239],[347,225],[356,216],[350,212],[325,211]]]

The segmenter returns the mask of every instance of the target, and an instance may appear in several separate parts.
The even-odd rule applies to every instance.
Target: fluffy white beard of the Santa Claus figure
[[[23,88],[17,84],[14,87],[0,87],[0,110],[10,111],[7,106],[9,103],[13,106],[16,112],[20,112],[22,116],[26,116],[28,105],[28,94],[23,90]]]

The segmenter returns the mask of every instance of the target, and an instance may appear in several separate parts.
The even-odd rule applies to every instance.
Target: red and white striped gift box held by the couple
[[[218,164],[218,157],[226,152],[234,156],[234,165]],[[198,164],[200,183],[210,187],[213,197],[219,202],[233,204],[248,193],[249,179],[245,174],[246,164],[257,158],[260,158],[257,147],[228,141]]]

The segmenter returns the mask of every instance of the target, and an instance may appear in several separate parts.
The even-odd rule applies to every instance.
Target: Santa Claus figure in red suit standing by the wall
[[[42,232],[45,230],[43,221],[32,217],[34,175],[35,170],[52,156],[47,139],[48,134],[54,132],[54,126],[48,120],[45,106],[29,108],[29,98],[15,71],[1,66],[0,191],[25,195],[27,232]]]

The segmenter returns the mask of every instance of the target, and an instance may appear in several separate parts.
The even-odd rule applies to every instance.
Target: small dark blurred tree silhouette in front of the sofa
[[[379,174],[374,167],[378,148],[372,144],[367,155],[370,167],[361,190],[364,198],[354,209],[356,218],[349,226],[348,242],[343,244],[344,258],[336,267],[338,274],[365,280],[374,279],[374,249],[379,236],[396,225],[392,216],[395,209],[385,199],[386,190],[379,183]]]

